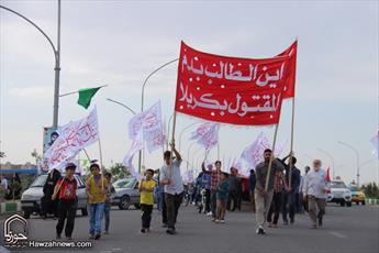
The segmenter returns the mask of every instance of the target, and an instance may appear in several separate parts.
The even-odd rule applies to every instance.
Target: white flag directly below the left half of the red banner
[[[190,140],[197,140],[199,145],[204,146],[205,150],[211,150],[219,142],[219,123],[202,123],[192,132]]]

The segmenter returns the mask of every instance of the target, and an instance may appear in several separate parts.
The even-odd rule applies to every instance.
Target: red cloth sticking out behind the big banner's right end
[[[288,77],[283,88],[283,99],[294,97],[294,84],[297,77],[297,55],[298,55],[298,41],[293,42],[290,47],[288,47],[283,53],[278,56],[288,55],[289,59],[289,69]]]

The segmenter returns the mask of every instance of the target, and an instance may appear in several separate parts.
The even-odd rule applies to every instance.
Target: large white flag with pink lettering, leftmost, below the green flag
[[[64,163],[99,140],[98,114],[96,108],[88,117],[71,121],[58,129],[59,138],[46,151],[44,158],[48,169],[60,168]]]

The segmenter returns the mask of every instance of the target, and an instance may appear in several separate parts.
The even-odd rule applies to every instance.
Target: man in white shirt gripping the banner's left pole
[[[167,230],[166,233],[175,234],[175,223],[177,221],[178,210],[183,198],[183,183],[180,175],[181,155],[175,147],[175,142],[170,143],[175,153],[175,158],[170,151],[164,153],[165,164],[160,168],[160,184],[165,186],[165,201],[167,210]]]

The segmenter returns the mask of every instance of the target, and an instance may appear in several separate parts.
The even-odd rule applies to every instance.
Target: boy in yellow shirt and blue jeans
[[[86,194],[88,195],[89,209],[89,238],[99,240],[101,237],[101,221],[104,213],[108,183],[100,174],[100,166],[91,164],[89,167],[92,175],[87,180]]]

